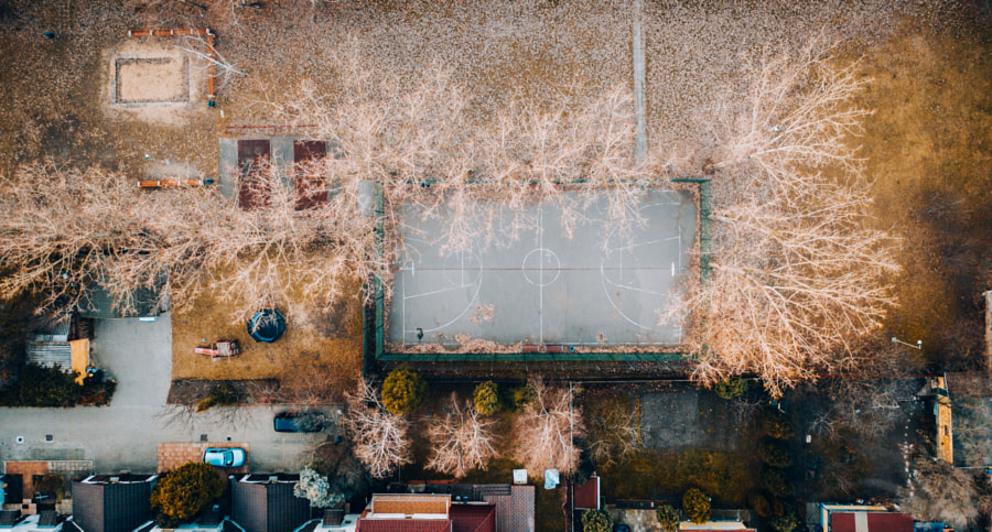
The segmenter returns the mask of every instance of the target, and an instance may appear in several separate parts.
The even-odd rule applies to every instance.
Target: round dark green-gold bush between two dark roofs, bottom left
[[[152,490],[152,508],[170,518],[188,522],[224,493],[224,480],[214,467],[191,462],[166,473]]]

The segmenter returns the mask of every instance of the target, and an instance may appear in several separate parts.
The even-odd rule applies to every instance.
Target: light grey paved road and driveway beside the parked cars
[[[209,441],[251,444],[255,473],[294,471],[309,462],[308,448],[326,434],[272,431],[280,408],[250,406],[185,414],[166,406],[172,369],[170,315],[158,322],[98,321],[94,361],[117,380],[109,406],[75,409],[0,409],[0,459],[91,459],[98,473],[121,469],[150,473],[157,445]],[[336,409],[332,409],[332,414]],[[45,442],[45,435],[53,436]],[[17,443],[23,436],[24,443]]]

